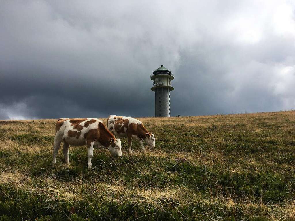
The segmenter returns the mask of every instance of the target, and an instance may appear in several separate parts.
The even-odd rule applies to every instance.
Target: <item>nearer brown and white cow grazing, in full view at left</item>
[[[60,118],[55,125],[53,161],[55,164],[60,143],[63,141],[63,155],[66,163],[69,161],[69,145],[88,147],[88,168],[92,166],[93,148],[100,146],[107,148],[112,156],[122,156],[121,140],[116,139],[106,129],[101,120],[96,118],[68,119]]]

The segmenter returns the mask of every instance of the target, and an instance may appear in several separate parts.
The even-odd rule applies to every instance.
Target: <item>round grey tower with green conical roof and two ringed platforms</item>
[[[163,65],[150,76],[153,80],[152,91],[155,91],[155,117],[170,117],[170,91],[174,88],[171,81],[174,74]]]

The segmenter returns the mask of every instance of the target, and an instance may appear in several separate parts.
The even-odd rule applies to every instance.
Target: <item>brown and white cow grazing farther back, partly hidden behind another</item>
[[[128,137],[129,153],[132,153],[132,139],[139,140],[140,146],[146,152],[142,141],[145,140],[151,148],[155,145],[155,136],[148,132],[142,122],[132,117],[110,115],[106,122],[107,128],[117,137]]]

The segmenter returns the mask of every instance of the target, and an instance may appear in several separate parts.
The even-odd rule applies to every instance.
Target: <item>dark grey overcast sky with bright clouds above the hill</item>
[[[294,1],[1,1],[0,119],[295,109]]]

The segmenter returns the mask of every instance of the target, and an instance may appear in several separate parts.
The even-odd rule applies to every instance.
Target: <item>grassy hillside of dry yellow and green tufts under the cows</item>
[[[51,166],[56,120],[0,121],[0,220],[295,220],[295,111],[139,119],[156,148],[90,170]]]

